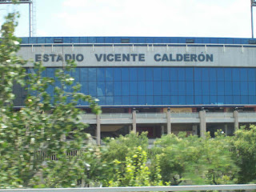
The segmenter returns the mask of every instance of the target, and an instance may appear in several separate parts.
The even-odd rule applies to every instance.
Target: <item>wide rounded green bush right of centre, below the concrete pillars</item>
[[[228,144],[224,137],[178,138],[169,134],[154,143],[153,163],[159,161],[162,180],[170,185],[234,183],[238,167]]]

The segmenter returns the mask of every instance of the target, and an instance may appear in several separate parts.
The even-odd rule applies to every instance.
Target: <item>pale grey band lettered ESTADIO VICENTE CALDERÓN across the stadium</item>
[[[44,66],[63,66],[74,60],[78,66],[235,66],[255,67],[256,47],[221,46],[22,46],[18,54],[43,62]],[[32,63],[27,66],[33,66]]]

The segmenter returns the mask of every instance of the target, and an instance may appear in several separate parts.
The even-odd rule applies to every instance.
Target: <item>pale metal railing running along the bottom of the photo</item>
[[[0,192],[140,192],[140,191],[184,191],[184,190],[256,190],[250,185],[212,186],[130,186],[130,187],[91,187],[91,188],[51,188],[51,189],[8,189]]]

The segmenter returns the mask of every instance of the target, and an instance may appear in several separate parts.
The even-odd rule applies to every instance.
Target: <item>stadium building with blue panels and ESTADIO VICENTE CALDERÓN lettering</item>
[[[81,92],[98,98],[102,114],[82,122],[97,138],[148,131],[149,138],[186,131],[226,135],[256,122],[256,40],[249,38],[22,38],[18,52],[43,62],[46,76],[74,59]],[[27,68],[32,67],[27,64]],[[54,88],[49,89],[53,93]],[[26,91],[16,87],[16,107]]]

